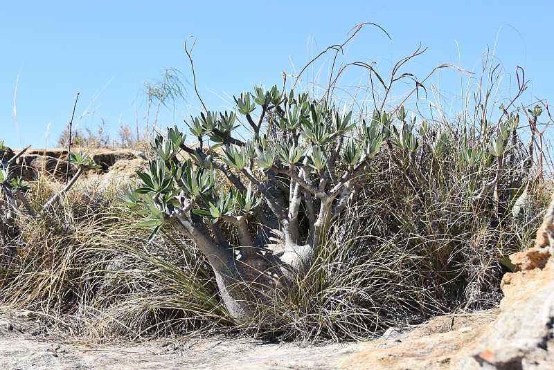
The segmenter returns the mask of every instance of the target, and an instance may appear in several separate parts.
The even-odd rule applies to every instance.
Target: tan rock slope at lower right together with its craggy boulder
[[[367,342],[341,369],[554,369],[554,197],[535,247],[510,255],[496,311],[438,317],[404,339]]]

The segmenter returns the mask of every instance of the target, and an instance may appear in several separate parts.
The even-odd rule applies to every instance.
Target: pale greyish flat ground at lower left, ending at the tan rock
[[[37,328],[32,315],[0,315],[0,369],[337,369],[359,344],[301,346],[195,337],[91,343]]]

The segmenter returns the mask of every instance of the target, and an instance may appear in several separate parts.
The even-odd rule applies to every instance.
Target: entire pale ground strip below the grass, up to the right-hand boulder
[[[0,309],[0,370],[477,369],[474,348],[497,315],[491,310],[436,317],[409,334],[391,329],[375,342],[301,346],[224,336],[86,342],[45,335],[51,332],[36,317]]]

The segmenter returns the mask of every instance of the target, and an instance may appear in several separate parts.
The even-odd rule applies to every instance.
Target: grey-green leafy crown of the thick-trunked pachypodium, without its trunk
[[[276,86],[269,90],[255,86],[253,93],[242,93],[235,102],[244,116],[240,123],[235,112],[206,111],[190,119],[190,133],[198,140],[194,149],[185,144],[186,135],[177,127],[154,140],[157,158],[150,161],[146,172],[139,172],[143,185],[125,189],[125,204],[142,205],[139,212],[149,217],[142,226],[151,226],[156,232],[175,207],[212,223],[249,214],[262,198],[271,207],[276,201],[268,197],[264,183],[290,186],[274,174],[292,178],[320,198],[305,197],[305,203],[317,202],[322,196],[334,198],[353,176],[359,176],[356,170],[366,167],[390,136],[387,113],[354,120],[346,107],[339,111],[307,93],[285,93]],[[252,114],[258,108],[261,112],[255,122]],[[267,133],[262,134],[262,124],[267,130],[278,127],[280,137],[269,140]],[[247,127],[251,140],[233,137],[238,127]],[[178,159],[182,153],[189,158]],[[261,172],[256,174],[258,169]],[[342,173],[337,174],[339,171]],[[230,190],[214,189],[217,174],[228,178]],[[317,186],[312,184],[315,181]]]

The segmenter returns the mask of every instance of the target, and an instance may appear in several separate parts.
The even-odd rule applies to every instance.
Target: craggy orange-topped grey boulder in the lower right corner
[[[490,369],[554,369],[554,259],[535,247],[510,256],[501,314],[474,358]]]

